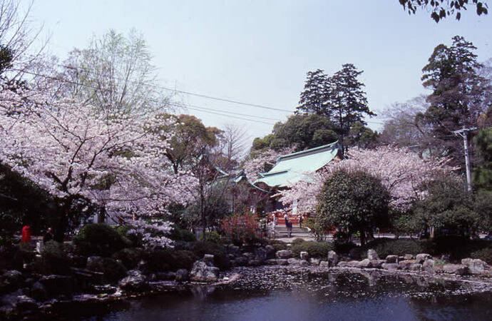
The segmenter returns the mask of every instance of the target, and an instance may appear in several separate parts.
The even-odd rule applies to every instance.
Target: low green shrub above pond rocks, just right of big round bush
[[[411,239],[378,238],[367,243],[363,250],[367,251],[370,248],[376,250],[379,258],[386,258],[387,255],[416,255],[425,252],[419,240]]]

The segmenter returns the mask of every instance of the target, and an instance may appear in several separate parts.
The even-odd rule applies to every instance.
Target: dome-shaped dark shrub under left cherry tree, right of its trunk
[[[109,256],[122,248],[132,246],[128,238],[104,223],[83,226],[73,238],[73,243],[76,245],[76,251],[82,255]]]

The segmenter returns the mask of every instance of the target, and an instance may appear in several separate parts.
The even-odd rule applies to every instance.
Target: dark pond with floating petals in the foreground
[[[234,272],[242,277],[230,285],[193,287],[128,300],[100,310],[86,310],[82,319],[492,319],[492,287],[476,279],[287,267],[241,268]]]

